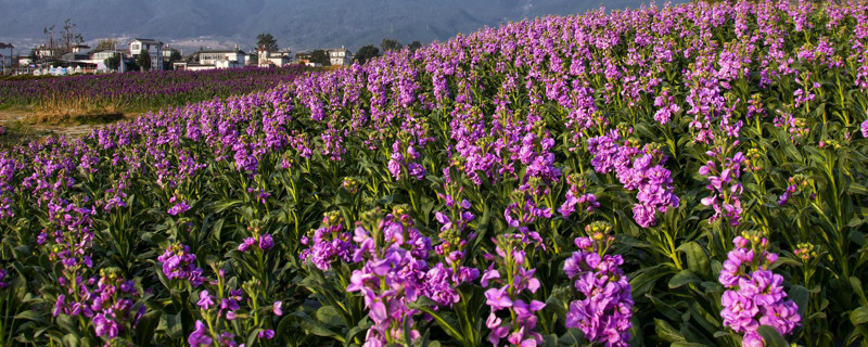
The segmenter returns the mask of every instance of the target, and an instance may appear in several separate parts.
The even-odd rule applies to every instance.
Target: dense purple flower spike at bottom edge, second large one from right
[[[628,346],[634,301],[629,279],[620,268],[624,259],[605,254],[613,237],[604,235],[611,228],[601,222],[588,226],[591,236],[576,239],[579,250],[564,261],[563,271],[575,280],[580,297],[570,303],[566,326],[582,330],[593,343]]]

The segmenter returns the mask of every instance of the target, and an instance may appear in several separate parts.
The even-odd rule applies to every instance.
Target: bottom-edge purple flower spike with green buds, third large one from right
[[[512,346],[542,344],[542,335],[534,332],[534,327],[538,320],[536,312],[546,304],[525,298],[535,294],[540,283],[534,277],[536,269],[528,269],[531,265],[523,249],[523,239],[521,234],[501,235],[495,241],[496,255],[486,255],[494,261],[483,274],[481,284],[492,286],[485,291],[485,304],[492,309],[485,326],[490,330],[488,342],[495,346],[500,346],[505,338]]]

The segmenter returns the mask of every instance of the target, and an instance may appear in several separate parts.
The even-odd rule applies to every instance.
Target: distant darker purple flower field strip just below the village
[[[305,70],[298,66],[245,67],[8,80],[0,81],[0,107],[35,106],[53,113],[65,113],[69,108],[158,110],[270,89]]]

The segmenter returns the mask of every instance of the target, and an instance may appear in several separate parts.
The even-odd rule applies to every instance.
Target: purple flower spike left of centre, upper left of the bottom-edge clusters
[[[308,248],[298,256],[302,261],[310,261],[318,269],[328,271],[334,260],[353,262],[356,245],[352,242],[353,235],[344,231],[344,219],[337,211],[326,213],[322,217],[322,227],[314,231],[314,235],[302,236],[302,244]],[[314,244],[310,244],[310,241]]]

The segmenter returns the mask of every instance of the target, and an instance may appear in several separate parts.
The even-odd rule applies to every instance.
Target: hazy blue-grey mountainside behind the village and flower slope
[[[85,39],[146,37],[255,44],[271,33],[281,48],[445,40],[458,33],[545,15],[584,13],[602,0],[0,0],[0,38],[40,42],[43,28],[69,18]],[[605,0],[609,10],[641,0]]]

